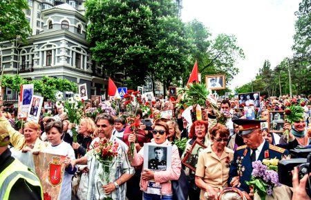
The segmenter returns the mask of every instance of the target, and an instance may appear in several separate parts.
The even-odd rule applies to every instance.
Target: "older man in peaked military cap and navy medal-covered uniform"
[[[269,144],[261,134],[262,120],[233,119],[239,126],[245,146],[236,148],[234,160],[229,170],[228,185],[243,191],[249,199],[249,186],[245,181],[250,181],[252,175],[252,162],[263,159],[282,159],[288,155],[288,150]]]

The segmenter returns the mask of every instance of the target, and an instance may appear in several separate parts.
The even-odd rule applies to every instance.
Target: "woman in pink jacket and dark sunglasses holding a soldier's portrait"
[[[167,140],[169,136],[169,127],[167,123],[159,121],[155,123],[153,129],[153,139],[151,144],[160,146],[171,146],[171,143]],[[135,134],[129,135],[129,143],[135,142]],[[155,149],[156,150],[156,149]],[[160,152],[160,150],[159,150]],[[155,152],[156,153],[156,152]],[[131,158],[132,166],[140,166],[144,163],[144,147],[139,152],[134,152],[134,157]],[[155,160],[159,162],[160,160]],[[171,181],[178,180],[180,176],[181,162],[178,154],[178,148],[176,145],[172,146],[171,154],[171,168],[164,171],[151,171],[143,169],[140,177],[140,190],[144,192],[144,200],[171,200],[173,199],[173,192],[171,189]]]

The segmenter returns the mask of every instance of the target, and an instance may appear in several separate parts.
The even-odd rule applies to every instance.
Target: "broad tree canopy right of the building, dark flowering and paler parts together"
[[[236,59],[244,57],[233,35],[211,39],[201,22],[182,22],[171,0],[87,0],[86,17],[93,60],[108,76],[124,72],[129,88],[147,77],[164,88],[185,85],[196,60],[202,77],[225,73],[230,81]]]

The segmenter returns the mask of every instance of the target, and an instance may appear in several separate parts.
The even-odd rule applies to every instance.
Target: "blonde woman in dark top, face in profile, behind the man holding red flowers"
[[[84,117],[81,119],[77,142],[73,142],[73,149],[77,150],[77,157],[83,157],[86,154],[86,149],[91,144],[95,128],[95,123],[91,118]]]

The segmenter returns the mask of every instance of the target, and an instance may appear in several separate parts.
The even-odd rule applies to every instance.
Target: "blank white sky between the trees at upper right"
[[[182,0],[182,21],[197,19],[215,37],[234,34],[245,59],[229,88],[252,81],[269,59],[272,68],[292,56],[294,12],[301,0]]]

